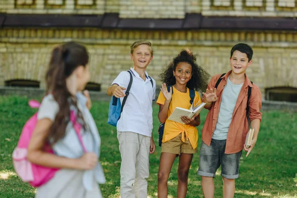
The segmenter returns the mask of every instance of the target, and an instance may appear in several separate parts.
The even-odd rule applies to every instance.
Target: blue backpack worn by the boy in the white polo
[[[126,89],[126,93],[125,93],[126,96],[124,97],[122,104],[121,104],[121,100],[116,98],[115,96],[113,96],[109,102],[107,123],[114,127],[116,127],[116,124],[121,117],[121,113],[123,111],[124,105],[125,105],[126,100],[130,94],[130,89],[131,89],[132,82],[133,82],[133,76],[132,76],[132,73],[130,70],[128,70],[128,72],[130,74],[130,81],[129,81],[128,87]],[[150,83],[151,83],[151,86],[153,86],[151,78],[150,78]]]

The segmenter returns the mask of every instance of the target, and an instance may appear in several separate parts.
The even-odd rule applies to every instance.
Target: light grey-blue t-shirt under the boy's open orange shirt
[[[218,121],[212,138],[215,140],[226,140],[229,126],[232,120],[234,107],[243,84],[236,85],[228,77],[227,84],[223,90]]]

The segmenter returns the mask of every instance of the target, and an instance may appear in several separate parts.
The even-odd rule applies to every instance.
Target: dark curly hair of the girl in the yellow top
[[[196,56],[190,51],[190,49],[183,49],[173,61],[168,65],[166,70],[160,74],[160,80],[166,83],[167,86],[174,85],[176,83],[173,71],[180,62],[187,62],[192,66],[192,77],[187,83],[189,89],[195,89],[196,91],[202,90],[207,85],[210,75],[196,63]]]

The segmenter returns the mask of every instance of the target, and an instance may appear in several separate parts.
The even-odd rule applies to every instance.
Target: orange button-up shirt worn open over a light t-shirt
[[[227,78],[231,71],[225,74],[222,77],[222,81],[217,87],[216,95],[218,96],[217,101],[212,103],[212,106],[209,108],[209,112],[206,116],[206,120],[202,129],[202,141],[210,146],[212,134],[215,130],[216,123],[218,120],[220,104],[223,94],[223,89],[227,83]],[[214,89],[214,86],[217,80],[220,78],[221,74],[215,75],[211,78],[207,88]],[[255,84],[251,84],[250,80],[247,78],[243,84],[243,87],[239,93],[238,99],[236,101],[232,120],[229,126],[228,135],[227,135],[227,142],[226,142],[226,154],[236,153],[241,151],[244,148],[248,128],[248,121],[247,121],[247,91],[248,87],[251,87],[251,94],[248,101],[249,106],[249,120],[252,121],[253,119],[262,119],[262,113],[260,112],[261,108],[261,92],[258,86]],[[202,101],[205,97],[203,96]]]

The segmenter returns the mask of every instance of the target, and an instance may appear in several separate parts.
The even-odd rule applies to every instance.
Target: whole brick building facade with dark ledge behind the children
[[[152,42],[148,73],[158,84],[181,49],[214,75],[230,69],[232,46],[247,43],[247,75],[263,99],[297,101],[296,17],[297,0],[0,0],[0,86],[45,88],[50,51],[66,41],[87,46],[89,86],[102,91],[133,66],[138,39]]]

